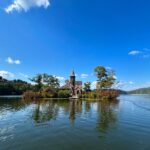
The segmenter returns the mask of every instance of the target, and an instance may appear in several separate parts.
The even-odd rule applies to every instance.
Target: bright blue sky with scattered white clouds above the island
[[[150,1],[0,1],[0,75],[63,80],[74,68],[94,84],[98,65],[113,68],[122,89],[150,86]]]

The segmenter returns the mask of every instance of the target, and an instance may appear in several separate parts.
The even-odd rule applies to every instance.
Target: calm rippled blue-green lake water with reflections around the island
[[[150,150],[150,95],[114,102],[0,98],[0,150]]]

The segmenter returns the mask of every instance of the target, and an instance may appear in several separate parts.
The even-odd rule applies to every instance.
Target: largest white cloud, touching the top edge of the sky
[[[5,8],[5,12],[27,12],[32,7],[44,7],[46,9],[49,5],[49,0],[13,0],[12,4]]]

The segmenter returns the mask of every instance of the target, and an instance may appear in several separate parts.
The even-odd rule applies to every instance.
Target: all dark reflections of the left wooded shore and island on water
[[[69,101],[69,100],[38,100],[38,101],[23,101],[23,100],[0,100],[0,112],[9,110],[19,111],[31,107],[30,116],[34,123],[48,123],[51,120],[57,120],[60,115],[68,116],[70,124],[76,123],[77,117],[80,118],[85,113],[88,114],[96,111],[96,128],[100,132],[106,132],[112,124],[117,121],[115,109],[119,101],[91,102],[91,101]],[[93,105],[96,106],[95,110]],[[1,114],[0,114],[1,115]]]

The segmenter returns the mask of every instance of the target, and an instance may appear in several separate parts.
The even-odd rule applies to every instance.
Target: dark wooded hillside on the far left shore
[[[21,95],[32,85],[22,80],[7,80],[0,76],[0,95]]]

